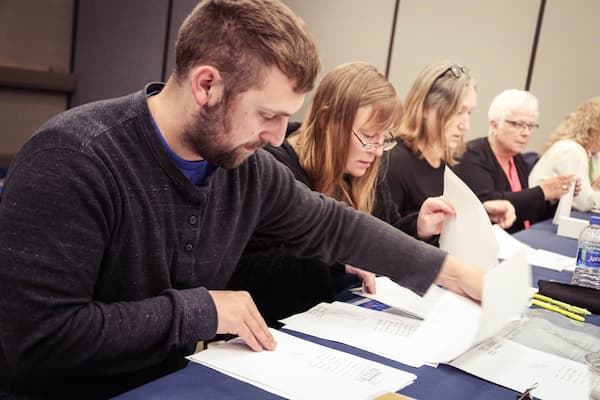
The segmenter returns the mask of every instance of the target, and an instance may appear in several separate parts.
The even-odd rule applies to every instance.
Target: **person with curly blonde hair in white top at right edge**
[[[544,146],[529,174],[529,186],[574,172],[580,191],[573,207],[580,211],[600,208],[600,170],[594,156],[600,153],[600,97],[593,97],[567,115]]]

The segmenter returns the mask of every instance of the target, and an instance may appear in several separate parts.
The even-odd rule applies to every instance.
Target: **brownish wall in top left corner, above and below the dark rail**
[[[0,65],[68,73],[73,0],[0,1]],[[67,107],[67,94],[0,86],[0,154]]]

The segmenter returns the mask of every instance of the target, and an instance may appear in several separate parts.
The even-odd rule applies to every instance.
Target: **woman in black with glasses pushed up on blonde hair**
[[[452,61],[427,65],[404,102],[405,115],[390,152],[386,176],[401,213],[419,209],[426,198],[444,190],[444,168],[456,163],[477,104],[475,80]]]

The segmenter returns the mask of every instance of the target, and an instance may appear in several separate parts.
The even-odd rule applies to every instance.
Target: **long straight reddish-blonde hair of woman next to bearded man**
[[[357,110],[371,106],[377,129],[395,127],[402,103],[393,85],[372,65],[355,62],[325,75],[301,128],[291,138],[312,188],[357,210],[371,213],[380,159],[361,177],[345,176],[344,168]]]

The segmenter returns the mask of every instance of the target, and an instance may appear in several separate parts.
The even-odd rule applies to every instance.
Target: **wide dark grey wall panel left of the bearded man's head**
[[[84,0],[76,15],[71,106],[162,79],[169,0]]]

